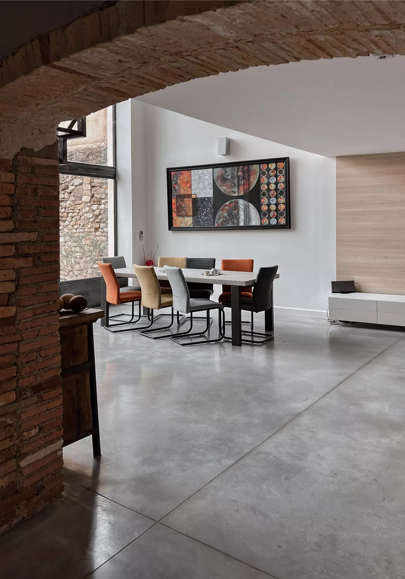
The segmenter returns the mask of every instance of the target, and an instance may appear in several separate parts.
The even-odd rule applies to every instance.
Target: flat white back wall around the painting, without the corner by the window
[[[146,114],[147,243],[160,255],[253,258],[279,266],[274,284],[279,313],[323,317],[336,278],[336,160],[224,129],[140,102]],[[229,156],[218,137],[230,137]],[[166,167],[290,157],[292,229],[170,232]],[[146,245],[145,245],[146,247]],[[158,254],[159,255],[159,254]],[[157,259],[156,259],[157,262]],[[216,292],[218,293],[218,292]],[[312,310],[312,311],[310,311]]]

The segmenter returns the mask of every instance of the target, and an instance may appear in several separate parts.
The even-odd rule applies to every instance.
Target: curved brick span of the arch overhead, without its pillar
[[[117,2],[3,60],[0,157],[50,144],[60,120],[193,78],[370,53],[405,54],[405,2]]]

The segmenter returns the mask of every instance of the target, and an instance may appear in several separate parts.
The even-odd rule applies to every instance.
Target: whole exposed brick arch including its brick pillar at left
[[[57,123],[219,72],[405,54],[404,28],[402,1],[121,1],[1,63],[0,532],[62,490]]]

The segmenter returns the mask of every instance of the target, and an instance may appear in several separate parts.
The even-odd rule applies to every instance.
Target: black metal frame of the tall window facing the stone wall
[[[77,123],[77,129],[73,129]],[[73,119],[68,127],[57,127],[59,173],[63,175],[78,175],[79,177],[98,177],[113,181],[113,228],[114,228],[114,255],[117,255],[117,169],[116,169],[116,107],[112,105],[112,162],[113,166],[90,163],[78,163],[68,160],[67,141],[72,138],[86,137],[86,117]],[[62,133],[62,134],[60,134]],[[87,277],[82,280],[67,280],[61,283],[82,281],[83,283],[96,280],[98,277]]]

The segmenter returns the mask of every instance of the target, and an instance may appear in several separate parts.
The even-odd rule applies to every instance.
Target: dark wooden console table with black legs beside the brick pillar
[[[95,383],[93,324],[102,310],[61,314],[63,446],[93,437],[93,455],[101,456]]]

